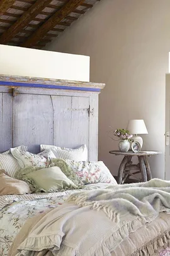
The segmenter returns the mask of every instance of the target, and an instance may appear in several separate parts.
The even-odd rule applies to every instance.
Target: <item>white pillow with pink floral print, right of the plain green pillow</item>
[[[65,160],[79,178],[79,185],[92,183],[111,183],[117,185],[115,178],[102,161],[98,162],[76,162]]]

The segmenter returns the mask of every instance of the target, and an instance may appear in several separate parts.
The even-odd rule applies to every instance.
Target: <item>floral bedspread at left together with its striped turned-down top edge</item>
[[[106,188],[107,186],[107,183],[98,183],[86,185],[79,190],[67,190],[65,192],[1,196],[0,256],[8,255],[9,247],[28,218],[50,208],[58,207],[71,193]]]

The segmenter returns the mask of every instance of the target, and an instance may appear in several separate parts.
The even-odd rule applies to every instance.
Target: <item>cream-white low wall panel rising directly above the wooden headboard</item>
[[[0,73],[89,82],[89,57],[1,44]]]

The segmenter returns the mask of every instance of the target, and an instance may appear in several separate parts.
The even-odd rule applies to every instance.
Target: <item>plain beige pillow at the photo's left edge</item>
[[[0,170],[0,195],[18,195],[31,193],[30,187],[21,180],[16,180]]]

